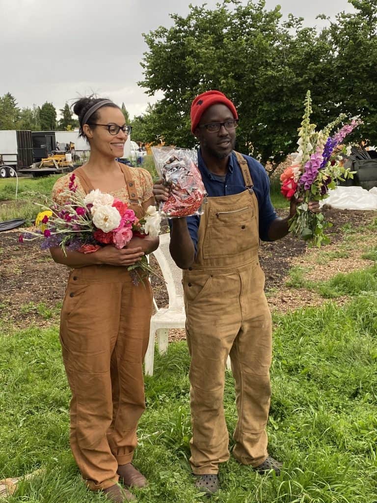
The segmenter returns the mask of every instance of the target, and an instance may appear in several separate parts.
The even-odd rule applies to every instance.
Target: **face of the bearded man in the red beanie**
[[[225,129],[221,126],[216,133],[211,133],[203,126],[204,124],[212,124],[214,122],[226,122],[234,119],[231,110],[222,103],[212,105],[202,115],[195,134],[199,139],[201,149],[207,151],[212,156],[218,159],[224,159],[232,150],[236,142],[236,130]]]

